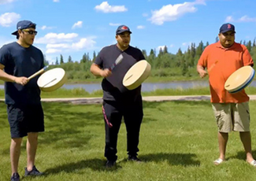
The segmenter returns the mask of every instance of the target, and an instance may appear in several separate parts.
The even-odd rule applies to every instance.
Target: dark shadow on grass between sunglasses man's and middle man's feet
[[[91,170],[98,171],[98,172],[113,172],[121,168],[121,166],[118,164],[115,165],[113,168],[106,168],[105,164],[106,164],[105,160],[94,158],[94,159],[89,159],[84,161],[73,162],[69,164],[62,164],[54,168],[48,168],[44,172],[46,173],[46,175],[59,174],[60,172],[79,173],[79,171],[84,168],[91,168]],[[83,173],[81,172],[81,174]]]

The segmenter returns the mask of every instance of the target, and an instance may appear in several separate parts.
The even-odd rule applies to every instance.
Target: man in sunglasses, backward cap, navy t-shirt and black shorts
[[[32,46],[35,35],[35,24],[30,20],[17,23],[17,42],[11,42],[0,49],[0,79],[5,81],[6,105],[11,132],[10,158],[12,181],[19,181],[18,162],[22,138],[28,135],[28,162],[26,175],[42,175],[35,168],[35,153],[38,134],[44,131],[43,108],[40,89],[37,85],[39,76],[28,81],[44,67],[43,53]]]

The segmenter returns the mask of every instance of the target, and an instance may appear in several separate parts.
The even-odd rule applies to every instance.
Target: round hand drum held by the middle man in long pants
[[[150,76],[151,65],[146,61],[138,61],[126,72],[123,85],[128,90],[139,87],[148,76]]]

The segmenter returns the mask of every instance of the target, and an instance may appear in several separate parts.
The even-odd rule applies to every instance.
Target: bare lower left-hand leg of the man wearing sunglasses
[[[22,142],[22,138],[12,139],[11,145],[9,148],[11,167],[12,167],[12,175],[13,175],[13,173],[18,172],[21,142]]]

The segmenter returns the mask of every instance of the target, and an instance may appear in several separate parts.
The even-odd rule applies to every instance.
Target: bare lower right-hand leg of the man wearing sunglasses
[[[35,153],[38,144],[38,133],[30,132],[28,133],[27,139],[27,170],[31,171],[35,165]]]

